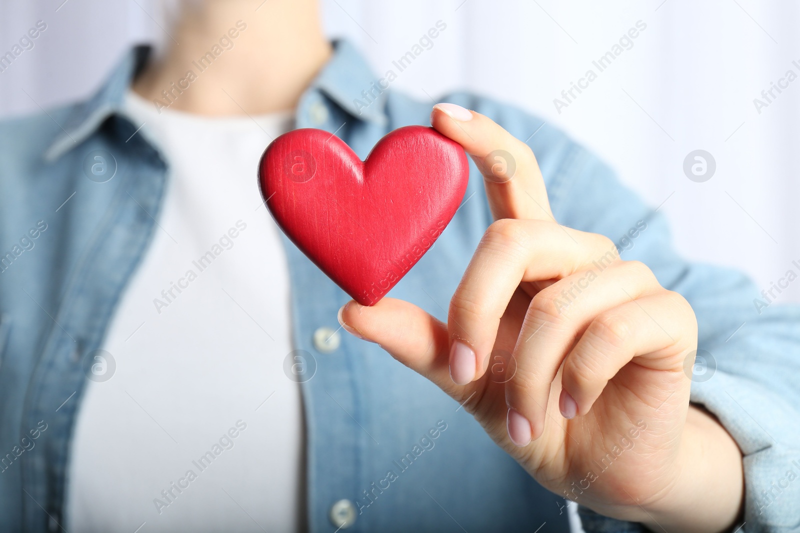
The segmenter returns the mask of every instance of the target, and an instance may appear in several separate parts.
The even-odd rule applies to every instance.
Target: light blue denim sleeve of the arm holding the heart
[[[546,177],[558,221],[606,235],[622,259],[648,265],[694,308],[699,336],[691,401],[713,413],[742,451],[746,503],[739,531],[800,531],[800,306],[777,303],[777,289],[762,293],[730,268],[685,261],[661,213],[585,149],[571,145],[565,152]],[[778,281],[786,288],[798,274],[800,258]],[[587,533],[645,531],[581,511]]]

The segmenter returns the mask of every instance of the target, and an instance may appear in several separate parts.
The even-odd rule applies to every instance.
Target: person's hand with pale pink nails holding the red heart
[[[655,531],[731,527],[742,457],[690,407],[690,305],[607,237],[558,225],[534,154],[489,118],[440,104],[431,123],[478,165],[494,224],[447,324],[391,298],[339,320],[464,404],[550,491]]]

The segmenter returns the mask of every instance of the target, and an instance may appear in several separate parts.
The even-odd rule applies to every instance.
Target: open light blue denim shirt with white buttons
[[[88,356],[157,227],[165,158],[121,111],[148,54],[134,49],[88,101],[0,124],[0,531],[60,529]],[[391,129],[428,123],[432,102],[376,81],[354,48],[337,42],[299,101],[297,127],[336,132],[364,158]],[[366,106],[365,90],[373,100]],[[561,224],[610,237],[623,259],[643,261],[689,300],[699,348],[708,354],[691,399],[718,417],[743,454],[740,531],[800,531],[798,308],[772,304],[759,312],[754,298],[762,295],[745,276],[682,260],[664,217],[541,119],[468,93],[440,101],[475,109],[527,139]],[[98,154],[109,165],[107,181],[91,172]],[[471,161],[470,173],[461,209],[391,292],[440,319],[491,222]],[[631,238],[634,228],[640,231]],[[330,511],[342,499],[355,510],[351,531],[569,531],[565,500],[422,376],[353,336],[342,335],[332,352],[318,349],[314,332],[338,328],[338,308],[349,298],[290,241],[283,244],[294,347],[316,365],[302,384],[310,531],[333,533]],[[434,434],[423,441],[432,447],[418,445]],[[410,452],[414,461],[401,467]],[[388,471],[397,473],[390,483]],[[582,520],[590,533],[644,531],[583,509]]]

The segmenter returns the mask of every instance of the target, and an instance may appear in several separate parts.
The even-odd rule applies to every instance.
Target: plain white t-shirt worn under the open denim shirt
[[[170,175],[102,346],[111,357],[97,354],[78,412],[66,530],[299,531],[302,400],[283,372],[289,274],[256,181],[291,113],[158,113],[132,92],[126,111]]]

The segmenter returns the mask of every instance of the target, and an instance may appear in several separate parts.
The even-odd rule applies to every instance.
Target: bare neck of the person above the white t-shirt
[[[292,109],[332,53],[316,0],[185,2],[169,33],[133,88],[186,113]]]

